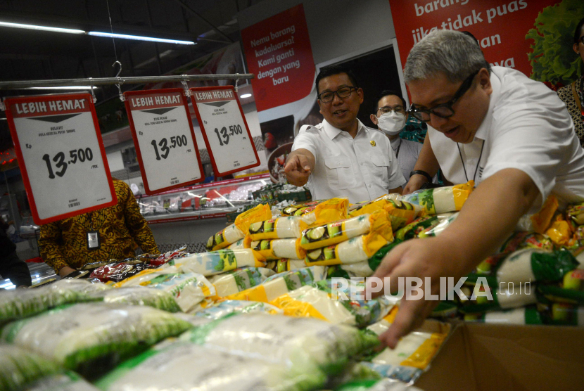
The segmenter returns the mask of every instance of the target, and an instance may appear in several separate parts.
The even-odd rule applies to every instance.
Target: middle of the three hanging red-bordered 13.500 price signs
[[[183,89],[129,91],[124,95],[146,193],[204,181]]]

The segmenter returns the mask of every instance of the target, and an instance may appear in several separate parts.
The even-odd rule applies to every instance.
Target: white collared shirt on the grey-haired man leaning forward
[[[493,94],[487,115],[474,141],[458,144],[460,152],[457,143],[428,127],[446,179],[460,184],[476,176],[478,185],[495,172],[515,168],[538,186],[540,198],[534,209],[552,192],[564,203],[583,201],[584,150],[566,105],[545,84],[518,70],[493,67],[490,82]]]

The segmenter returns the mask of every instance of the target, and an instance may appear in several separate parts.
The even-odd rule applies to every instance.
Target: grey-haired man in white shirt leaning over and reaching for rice
[[[410,114],[433,128],[415,169],[433,176],[440,167],[447,180],[474,179],[478,186],[440,236],[396,246],[374,276],[391,277],[392,291],[399,277],[424,283],[429,277],[431,293],[438,293],[438,277],[456,283],[496,252],[520,217],[537,212],[550,193],[564,204],[583,201],[584,150],[554,91],[516,70],[491,70],[476,42],[460,32],[438,30],[419,41],[404,78],[412,94]],[[404,192],[425,182],[424,175],[412,175]],[[390,347],[438,303],[426,296],[405,299],[381,335]]]

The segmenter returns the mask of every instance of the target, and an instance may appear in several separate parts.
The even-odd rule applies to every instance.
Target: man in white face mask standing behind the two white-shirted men
[[[398,158],[405,183],[407,183],[410,180],[410,172],[414,170],[418,160],[422,144],[400,139],[400,133],[407,120],[405,100],[401,94],[396,91],[381,91],[371,120],[391,142],[391,148],[395,153],[395,158]]]

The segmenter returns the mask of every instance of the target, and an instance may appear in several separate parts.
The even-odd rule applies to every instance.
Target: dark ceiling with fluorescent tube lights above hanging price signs
[[[237,13],[260,1],[0,0],[1,22],[196,42],[182,45],[130,39],[114,41],[87,34],[0,26],[0,81],[115,77],[116,60],[122,63],[122,77],[164,75],[239,41]],[[124,90],[129,88],[135,86],[123,86]],[[63,91],[47,90],[42,94],[56,92]],[[32,94],[39,91],[1,90],[0,98]],[[101,86],[96,89],[96,96],[99,104],[118,96],[118,89]],[[4,113],[0,112],[0,117],[5,117]],[[3,144],[7,143],[2,130],[0,150],[6,149]]]

